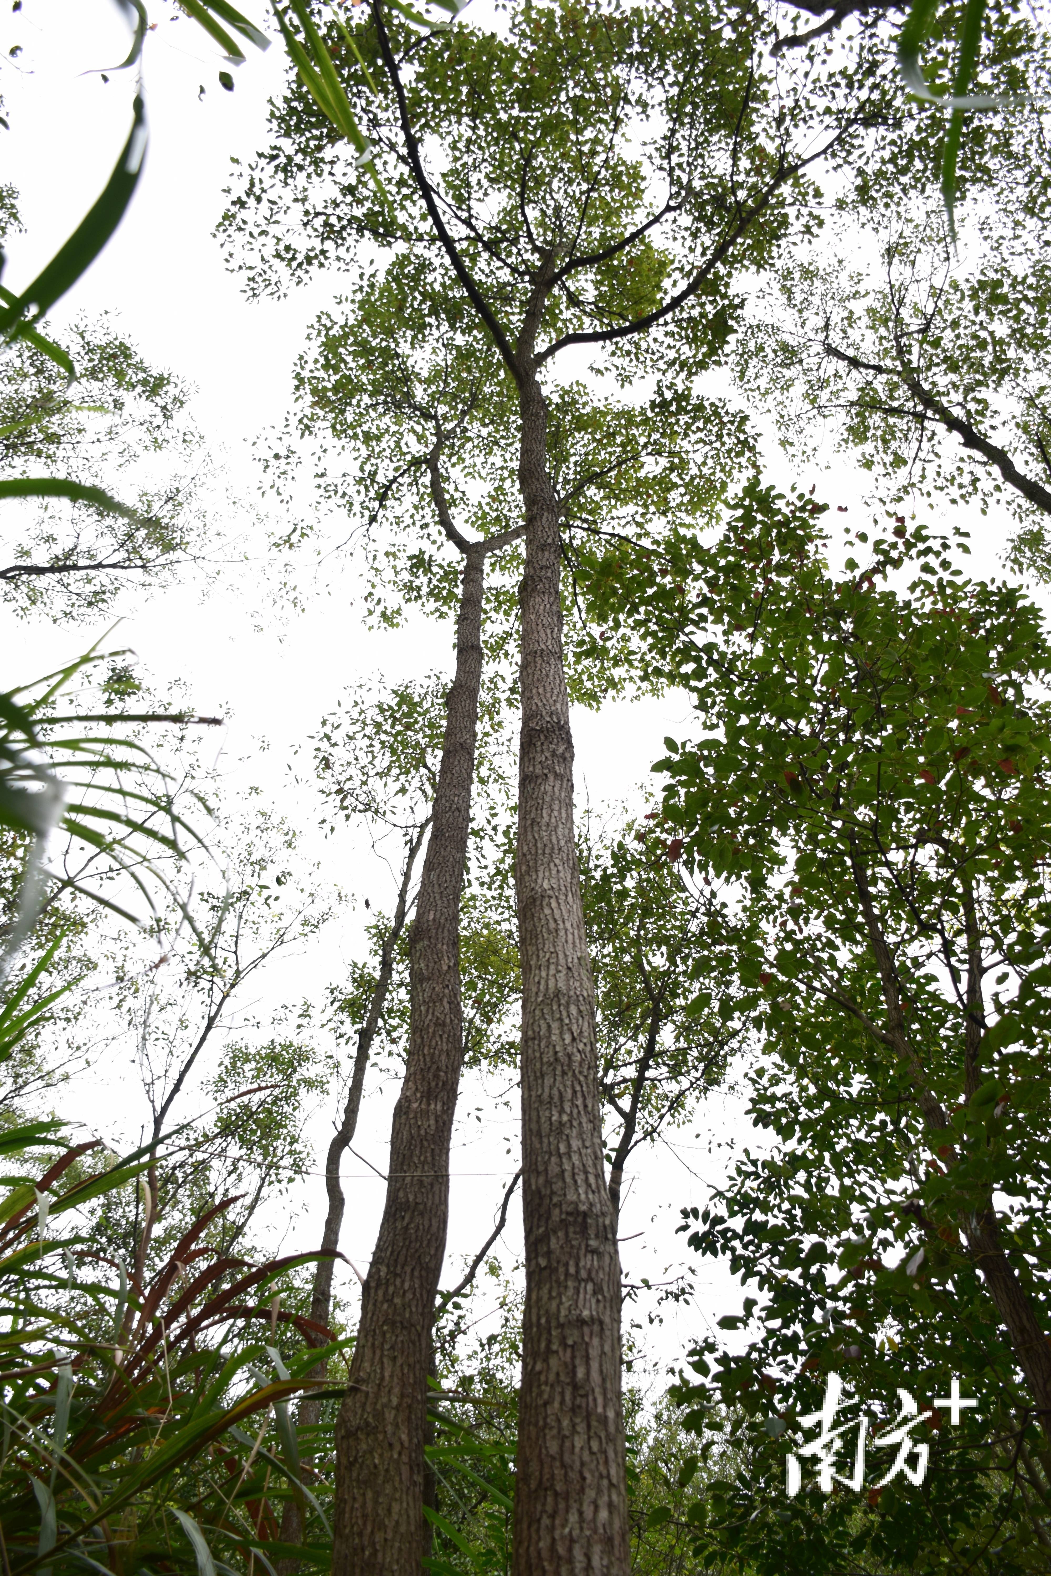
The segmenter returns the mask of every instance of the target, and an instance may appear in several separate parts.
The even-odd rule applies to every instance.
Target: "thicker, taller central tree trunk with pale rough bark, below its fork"
[[[526,1297],[514,1573],[624,1576],[621,1277],[574,840],[558,504],[547,410],[531,370],[520,403],[526,566],[515,883]]]

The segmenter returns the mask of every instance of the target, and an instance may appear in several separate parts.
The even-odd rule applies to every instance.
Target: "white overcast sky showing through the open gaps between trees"
[[[249,11],[263,20],[262,6]],[[197,386],[194,416],[222,463],[225,482],[255,507],[263,500],[251,457],[252,438],[280,422],[290,403],[293,359],[312,317],[337,293],[340,281],[331,290],[312,285],[280,303],[260,306],[243,299],[211,232],[224,208],[230,156],[247,159],[265,142],[266,101],[279,91],[285,69],[282,50],[277,44],[266,55],[249,49],[249,60],[236,71],[235,91],[225,93],[217,80],[225,61],[200,28],[186,17],[173,20],[175,11],[159,5],[151,8],[151,17],[158,27],[148,36],[145,57],[151,120],[145,175],[128,219],[52,322],[118,310],[121,329],[148,361]],[[14,44],[24,52],[11,61],[6,57]],[[124,72],[104,85],[98,76],[82,72],[121,60],[126,49],[124,24],[107,0],[25,0],[19,14],[6,14],[0,88],[11,132],[0,142],[0,178],[19,188],[27,227],[27,235],[14,238],[9,249],[8,288],[17,292],[30,282],[79,222],[115,162],[128,136],[134,82]],[[771,465],[778,481],[789,479],[774,451]],[[805,485],[818,479],[819,492],[832,501],[849,501],[856,519],[860,487],[843,466],[837,466],[832,481],[811,474],[799,479]],[[990,528],[975,522],[975,537],[977,559],[993,567],[996,542]],[[249,553],[260,541],[262,533],[249,533]],[[317,804],[309,790],[293,786],[288,763],[295,747],[356,678],[381,671],[396,679],[429,667],[449,668],[451,632],[425,624],[394,635],[366,632],[347,605],[353,596],[351,572],[331,561],[320,577],[303,580],[309,591],[304,613],[276,607],[260,589],[263,567],[232,563],[210,585],[191,575],[183,586],[148,600],[128,593],[120,608],[126,621],[115,638],[139,652],[159,689],[180,679],[192,706],[228,719],[216,749],[232,793],[258,785],[280,812],[301,824],[307,856],[318,857],[323,851],[329,879],[384,903],[383,875],[353,837],[318,842]],[[20,678],[46,671],[57,659],[85,649],[109,623],[87,635],[44,623],[8,624],[5,671]],[[660,753],[663,734],[689,733],[685,717],[687,709],[676,697],[640,706],[618,703],[600,716],[577,716],[578,801],[585,794],[592,804],[630,794]],[[303,771],[303,763],[298,769]],[[265,999],[292,999],[339,979],[359,944],[359,920],[361,908],[309,955],[276,969]],[[140,1114],[129,1103],[132,1097],[134,1086],[99,1072],[91,1087],[77,1091],[76,1110],[106,1136],[117,1135],[124,1117],[134,1132]],[[367,1098],[355,1144],[380,1169],[391,1105],[389,1087]],[[504,1154],[507,1125],[498,1113],[479,1127],[471,1119],[479,1105],[484,1105],[481,1091],[465,1087],[452,1157],[446,1284],[485,1239],[503,1182],[514,1169]],[[321,1157],[328,1113],[318,1113],[314,1128]],[[663,1281],[678,1273],[676,1266],[684,1259],[684,1239],[674,1236],[679,1207],[706,1201],[707,1185],[725,1168],[728,1150],[722,1146],[741,1143],[747,1132],[739,1105],[717,1095],[696,1124],[671,1136],[671,1146],[637,1157],[621,1228],[630,1239],[622,1243],[622,1254],[632,1280],[646,1275]],[[344,1250],[364,1267],[383,1188],[351,1158],[345,1171]],[[288,1215],[284,1251],[312,1247],[320,1236],[320,1177],[296,1204]],[[514,1221],[504,1250],[507,1262],[518,1245],[520,1229]],[[646,1335],[662,1363],[678,1362],[703,1324],[739,1305],[737,1289],[711,1259],[696,1262],[696,1307],[663,1310],[667,1324]],[[350,1275],[342,1269],[340,1273]]]

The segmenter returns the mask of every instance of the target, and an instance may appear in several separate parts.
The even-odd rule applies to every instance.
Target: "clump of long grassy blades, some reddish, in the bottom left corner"
[[[162,1559],[194,1571],[206,1546],[238,1562],[251,1546],[265,1549],[271,1475],[277,1502],[304,1492],[280,1426],[266,1437],[271,1414],[280,1418],[304,1388],[304,1365],[290,1377],[266,1340],[252,1338],[252,1322],[273,1322],[266,1294],[304,1256],[258,1269],[216,1259],[200,1247],[205,1215],[142,1283],[76,1225],[61,1236],[52,1221],[71,1212],[77,1221],[87,1202],[132,1184],[148,1152],[90,1171],[80,1157],[98,1146],[66,1149],[58,1122],[0,1138],[8,1165],[32,1165],[41,1146],[58,1150],[54,1163],[43,1176],[5,1177],[0,1204],[6,1562],[121,1573]],[[273,1366],[276,1381],[260,1371]],[[252,1439],[243,1429],[255,1431],[260,1415]],[[320,1507],[314,1515],[323,1524]]]

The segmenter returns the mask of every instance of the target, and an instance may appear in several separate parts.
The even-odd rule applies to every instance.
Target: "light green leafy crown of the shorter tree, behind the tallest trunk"
[[[295,506],[309,446],[336,530],[366,559],[367,619],[397,627],[414,607],[452,616],[463,544],[522,528],[518,402],[433,257],[422,249],[394,254],[383,273],[362,276],[339,310],[323,314],[298,362],[296,394],[295,422],[263,457],[274,492]],[[578,541],[655,531],[668,512],[712,514],[731,478],[755,462],[755,437],[744,413],[689,388],[662,381],[640,403],[599,397],[574,380],[551,389],[547,452],[572,569]],[[449,531],[460,536],[455,545]],[[296,528],[285,545],[303,536]],[[500,660],[511,665],[520,575],[517,542],[487,559],[490,671]],[[572,585],[566,611],[575,611]],[[575,701],[597,704],[630,686],[630,668],[610,662],[594,630],[575,634]],[[509,675],[503,687],[511,690]],[[492,742],[500,711],[492,690],[482,709]],[[482,749],[479,763],[488,756]]]

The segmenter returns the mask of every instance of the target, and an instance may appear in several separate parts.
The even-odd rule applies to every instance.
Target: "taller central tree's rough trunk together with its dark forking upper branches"
[[[585,939],[583,906],[574,842],[572,734],[563,663],[559,504],[547,466],[547,407],[537,367],[572,345],[613,344],[644,334],[679,312],[704,288],[753,224],[764,216],[782,186],[810,162],[824,158],[845,132],[799,159],[785,148],[769,178],[742,202],[733,184],[733,217],[712,230],[711,246],[690,277],[678,282],[651,310],[611,317],[588,307],[581,271],[608,263],[652,229],[626,213],[626,232],[594,255],[577,255],[588,225],[588,210],[602,189],[600,162],[581,180],[578,211],[547,194],[548,213],[528,214],[533,153],[511,139],[509,159],[520,167],[507,192],[523,229],[514,254],[501,254],[509,230],[501,219],[492,235],[479,229],[479,214],[457,216],[459,200],[446,202],[429,178],[413,129],[408,95],[388,35],[383,8],[372,5],[380,57],[394,91],[405,161],[429,225],[452,273],[471,303],[518,391],[518,479],[526,520],[526,569],[522,585],[522,736],[518,763],[518,849],[515,865],[518,939],[522,952],[522,1158],[526,1250],[522,1403],[515,1477],[515,1576],[627,1576],[627,1483],[621,1411],[621,1281],[615,1210],[605,1187],[600,1095],[594,1023],[594,987]],[[569,50],[575,55],[575,47]],[[605,57],[603,57],[605,58]],[[635,57],[632,57],[635,61]],[[637,66],[622,61],[633,71]],[[523,55],[523,69],[526,57]],[[663,69],[663,66],[662,66]],[[750,79],[748,79],[750,80]],[[574,88],[575,91],[575,88]],[[551,101],[553,102],[553,101]],[[618,99],[618,102],[621,102]],[[624,101],[626,102],[626,101]],[[742,102],[736,139],[747,101]],[[615,117],[621,126],[621,113]],[[433,134],[433,126],[432,126]],[[610,131],[610,151],[619,129]],[[687,165],[692,169],[690,159]],[[572,159],[569,159],[572,162]],[[687,177],[682,186],[690,188]],[[613,202],[619,200],[619,192]],[[570,203],[572,208],[572,203]],[[678,208],[670,203],[667,211]],[[449,225],[481,240],[481,254],[504,269],[488,299]],[[500,232],[500,240],[496,233]],[[553,240],[544,240],[551,236]],[[561,254],[556,257],[556,249]],[[545,251],[547,249],[547,251]],[[501,322],[495,304],[514,298],[523,281],[522,255],[540,265],[529,281],[522,328]],[[514,255],[514,260],[511,257]],[[575,276],[572,290],[566,284]],[[547,329],[558,334],[566,301],[594,328],[551,339],[544,348],[539,331],[551,293],[564,290],[559,312],[548,314]],[[603,287],[605,288],[605,287]],[[586,292],[585,292],[586,293]],[[402,1565],[391,1565],[394,1573]],[[364,1567],[362,1567],[364,1570]],[[337,1571],[342,1576],[342,1571]]]

